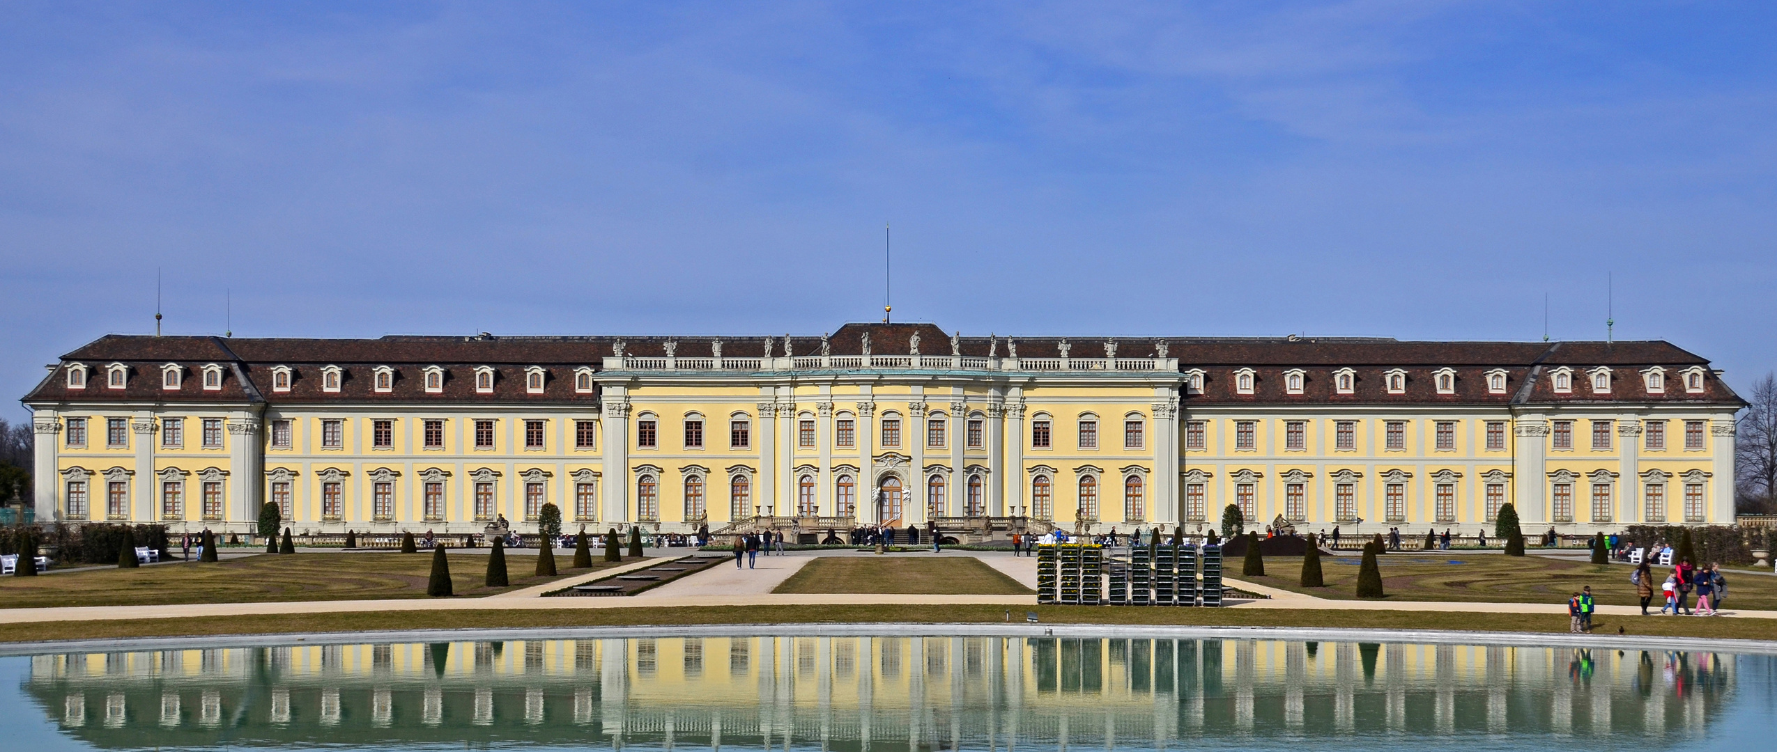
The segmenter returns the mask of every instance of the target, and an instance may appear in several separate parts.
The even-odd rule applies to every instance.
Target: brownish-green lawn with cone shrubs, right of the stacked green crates
[[[1429,552],[1388,553],[1377,557],[1383,569],[1383,591],[1393,601],[1464,601],[1464,603],[1566,603],[1573,591],[1592,585],[1592,596],[1603,605],[1640,605],[1631,568],[1626,564],[1587,564],[1550,557],[1505,557],[1498,553]],[[1320,557],[1320,571],[1327,587],[1301,587],[1301,557],[1267,557],[1269,576],[1239,575],[1240,562],[1228,562],[1228,576],[1260,585],[1308,592],[1317,598],[1354,599],[1358,591],[1358,557]],[[1649,610],[1658,608],[1658,582],[1665,582],[1670,568],[1653,568],[1656,594]],[[1777,576],[1743,571],[1725,571],[1727,599],[1724,608],[1777,608]],[[1695,601],[1695,596],[1692,598]]]

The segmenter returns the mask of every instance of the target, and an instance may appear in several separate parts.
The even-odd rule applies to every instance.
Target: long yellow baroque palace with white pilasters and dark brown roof
[[[1733,523],[1734,411],[1669,342],[107,335],[23,403],[39,521],[297,532]],[[992,527],[992,525],[990,525]]]

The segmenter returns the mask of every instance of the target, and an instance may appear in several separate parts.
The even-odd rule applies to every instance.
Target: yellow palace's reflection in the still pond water
[[[98,747],[1153,745],[1246,734],[1701,731],[1708,653],[1173,638],[705,637],[46,654]]]

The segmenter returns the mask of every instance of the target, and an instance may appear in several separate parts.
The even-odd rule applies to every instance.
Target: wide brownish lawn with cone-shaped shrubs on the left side
[[[569,569],[572,552],[556,553],[556,578],[535,576],[537,557],[506,557],[510,587],[485,587],[487,555],[450,555],[458,596],[490,596],[594,569]],[[633,560],[633,559],[631,559]],[[165,603],[347,601],[425,598],[432,552],[286,553],[217,564],[162,564],[139,569],[91,569],[64,575],[0,576],[0,608],[112,607]]]

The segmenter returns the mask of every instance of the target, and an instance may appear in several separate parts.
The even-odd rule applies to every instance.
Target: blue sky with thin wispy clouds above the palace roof
[[[0,392],[107,332],[1670,339],[1777,367],[1768,4],[0,4]],[[229,291],[229,293],[226,293]],[[25,411],[9,403],[0,415]]]

